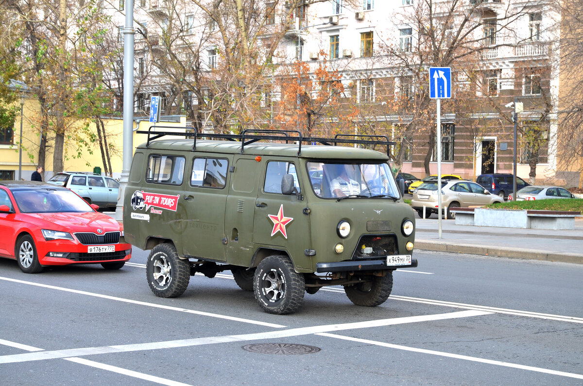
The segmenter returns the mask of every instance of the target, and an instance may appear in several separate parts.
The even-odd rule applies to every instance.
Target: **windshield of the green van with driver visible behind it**
[[[312,182],[315,194],[322,198],[392,197],[399,198],[399,189],[387,163],[327,163],[308,162],[308,170],[322,170],[322,184]]]

